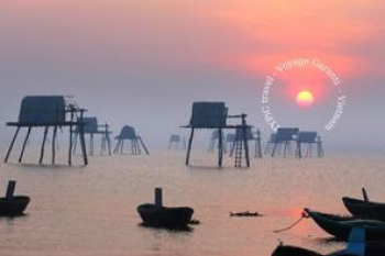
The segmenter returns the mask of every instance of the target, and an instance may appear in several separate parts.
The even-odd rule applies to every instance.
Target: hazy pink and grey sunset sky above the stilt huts
[[[194,101],[224,101],[266,140],[261,100],[275,74],[268,107],[282,126],[317,130],[326,148],[383,153],[384,14],[374,0],[0,0],[0,141],[29,94],[74,96],[116,133],[129,124],[164,147],[187,135],[178,126]],[[309,64],[277,70],[298,59]],[[311,107],[296,103],[301,90]]]

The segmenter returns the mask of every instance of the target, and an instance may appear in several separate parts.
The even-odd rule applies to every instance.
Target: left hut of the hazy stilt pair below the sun
[[[299,140],[299,129],[297,127],[279,127],[274,136],[272,156],[297,156],[301,157]],[[282,148],[284,147],[284,148]]]

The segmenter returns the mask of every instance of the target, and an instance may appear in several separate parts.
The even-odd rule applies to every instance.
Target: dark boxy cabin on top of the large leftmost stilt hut
[[[21,102],[20,123],[59,124],[66,119],[66,105],[63,96],[28,96]]]

